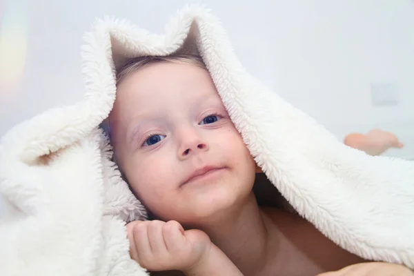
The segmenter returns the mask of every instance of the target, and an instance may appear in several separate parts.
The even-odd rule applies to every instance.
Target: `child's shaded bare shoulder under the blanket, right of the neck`
[[[364,262],[296,213],[276,208],[262,208],[262,213],[273,236],[271,242],[277,246],[271,251],[269,273],[284,270],[286,275],[317,275]]]

